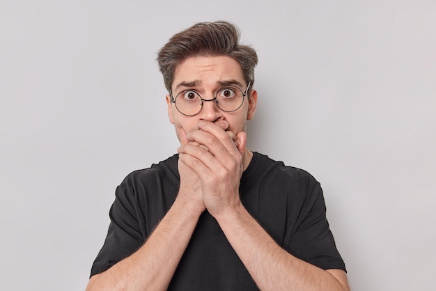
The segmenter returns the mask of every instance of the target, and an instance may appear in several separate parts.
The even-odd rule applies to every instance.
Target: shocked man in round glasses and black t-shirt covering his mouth
[[[257,55],[198,23],[157,61],[178,154],[117,187],[87,290],[349,290],[309,173],[246,148]]]

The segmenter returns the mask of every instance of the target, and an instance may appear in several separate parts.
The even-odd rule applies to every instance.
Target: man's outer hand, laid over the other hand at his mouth
[[[224,123],[201,120],[199,129],[186,135],[189,143],[178,149],[182,163],[200,178],[203,203],[213,216],[240,205],[239,184],[247,135],[226,132]]]

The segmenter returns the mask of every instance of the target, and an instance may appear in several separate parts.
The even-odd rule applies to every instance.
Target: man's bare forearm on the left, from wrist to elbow
[[[194,232],[200,213],[176,199],[140,249],[101,274],[91,290],[166,290]]]

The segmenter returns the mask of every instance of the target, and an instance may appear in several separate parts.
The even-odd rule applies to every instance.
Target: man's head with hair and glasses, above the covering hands
[[[159,51],[169,119],[181,143],[200,120],[237,135],[254,117],[257,93],[251,86],[257,55],[238,39],[232,24],[205,22],[177,33]]]

